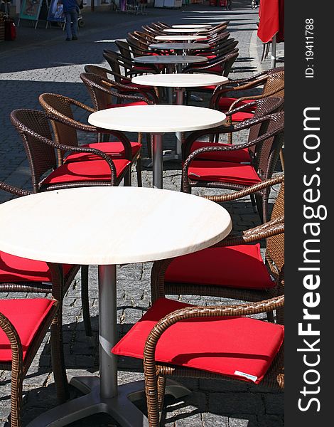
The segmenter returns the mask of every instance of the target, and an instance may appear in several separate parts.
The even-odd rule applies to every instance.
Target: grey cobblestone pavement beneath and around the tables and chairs
[[[11,184],[30,188],[30,172],[21,139],[9,120],[11,110],[20,107],[40,109],[38,95],[53,92],[74,97],[90,105],[84,85],[79,78],[87,63],[106,65],[102,58],[103,48],[115,48],[114,40],[126,37],[128,31],[139,29],[151,21],[167,23],[216,23],[229,19],[229,31],[239,41],[239,58],[232,77],[246,77],[258,70],[270,68],[270,58],[260,62],[262,43],[257,38],[257,10],[252,11],[250,1],[235,0],[232,11],[207,5],[190,5],[181,10],[147,9],[147,15],[126,15],[109,11],[107,7],[91,13],[85,12],[85,27],[80,29],[79,40],[64,43],[65,35],[60,28],[34,30],[31,23],[21,21],[18,38],[14,42],[0,43],[0,179]],[[280,61],[284,60],[284,45],[278,45]],[[281,65],[278,63],[277,65]],[[206,106],[203,102],[194,105]],[[82,117],[83,118],[83,117]],[[166,148],[173,147],[173,135],[166,136]],[[146,155],[144,147],[144,157]],[[279,167],[278,167],[279,170]],[[151,169],[143,172],[144,186],[151,186]],[[136,185],[135,173],[133,174]],[[177,163],[164,164],[163,186],[180,190],[181,167]],[[275,192],[272,192],[272,197]],[[9,196],[3,192],[0,201]],[[250,228],[259,223],[249,199],[225,206],[232,215],[236,230]],[[80,213],[79,213],[80,214]],[[264,250],[264,248],[263,248]],[[122,336],[147,310],[150,304],[149,278],[151,263],[123,265],[117,271],[117,307],[119,335]],[[24,297],[7,294],[1,297]],[[33,295],[30,295],[33,296]],[[37,295],[36,295],[37,296]],[[41,296],[41,295],[38,295]],[[216,303],[208,297],[178,296],[179,300],[195,304]],[[222,301],[230,303],[231,301]],[[68,376],[98,373],[97,352],[97,268],[90,267],[90,305],[93,339],[85,337],[80,301],[80,274],[64,300],[64,342]],[[50,373],[49,335],[45,337],[31,369],[24,381],[23,425],[39,413],[54,407],[55,389]],[[8,426],[10,373],[0,371],[0,426]],[[142,379],[141,362],[134,359],[119,360],[119,384]],[[225,381],[182,380],[193,394],[185,401],[170,402],[164,413],[164,425],[168,427],[281,427],[284,424],[284,396],[249,384],[232,384]],[[72,390],[75,396],[75,390]],[[72,427],[115,426],[107,416],[95,416],[72,423]]]

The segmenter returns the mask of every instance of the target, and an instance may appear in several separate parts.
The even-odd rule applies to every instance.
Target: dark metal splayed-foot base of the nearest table
[[[145,398],[144,381],[134,381],[119,386],[117,396],[112,398],[100,396],[97,376],[75,377],[71,379],[70,384],[86,395],[42,413],[27,427],[63,427],[95,413],[106,413],[123,427],[149,426],[144,413],[132,403]],[[180,399],[190,394],[190,390],[168,379],[166,394]]]

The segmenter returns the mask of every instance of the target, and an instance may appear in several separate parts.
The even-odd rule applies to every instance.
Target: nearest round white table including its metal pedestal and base
[[[62,233],[53,233],[60,212],[80,215],[70,215]],[[142,395],[143,382],[117,386],[117,357],[111,353],[117,342],[116,265],[207,248],[230,233],[230,215],[212,201],[178,191],[97,186],[7,201],[0,205],[0,223],[1,251],[50,263],[99,265],[99,377],[72,379],[70,384],[85,396],[56,406],[28,426],[61,427],[94,413],[108,413],[124,427],[147,426],[129,400]],[[168,392],[184,395],[174,381]]]

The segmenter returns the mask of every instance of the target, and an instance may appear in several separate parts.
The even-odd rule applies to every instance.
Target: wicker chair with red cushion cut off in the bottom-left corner
[[[58,302],[54,299],[0,300],[0,369],[11,371],[11,427],[21,426],[23,379],[45,333],[53,322],[57,322],[57,310]],[[26,334],[33,338],[27,339]],[[51,341],[54,339],[51,334]],[[60,360],[59,355],[58,359],[55,357],[57,355],[53,353],[53,368],[59,370],[63,359]]]

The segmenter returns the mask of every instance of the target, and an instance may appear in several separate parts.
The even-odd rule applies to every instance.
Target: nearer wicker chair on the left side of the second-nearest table
[[[11,112],[11,122],[21,135],[26,149],[34,193],[81,186],[118,185],[122,179],[125,185],[131,184],[131,145],[125,135],[117,132],[119,140],[124,144],[124,159],[112,159],[96,148],[72,147],[53,141],[49,119],[63,122],[64,125],[68,123],[60,117],[38,110]],[[84,132],[101,132],[97,127],[76,123],[72,125]],[[55,150],[76,153],[77,161],[65,162],[58,167]]]

